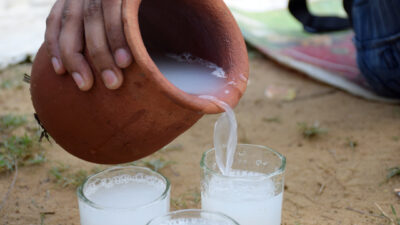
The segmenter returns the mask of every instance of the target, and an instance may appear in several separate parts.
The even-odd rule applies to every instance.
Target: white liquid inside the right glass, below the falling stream
[[[283,192],[274,196],[274,183],[253,172],[233,171],[230,179],[214,176],[202,192],[202,209],[218,211],[240,225],[280,225]]]

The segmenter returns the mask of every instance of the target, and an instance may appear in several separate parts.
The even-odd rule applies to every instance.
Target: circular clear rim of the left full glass
[[[135,206],[135,207],[133,207],[133,206],[127,206],[127,207],[111,207],[111,206],[104,206],[104,205],[98,204],[98,203],[96,203],[96,202],[93,202],[93,201],[90,200],[88,197],[86,197],[85,193],[83,192],[83,189],[84,189],[86,183],[89,181],[89,179],[91,179],[91,178],[93,178],[93,177],[95,177],[95,176],[97,176],[97,175],[99,175],[99,174],[107,173],[107,172],[109,172],[109,171],[118,170],[118,169],[140,169],[140,170],[148,171],[148,172],[150,172],[150,173],[152,173],[152,174],[159,175],[159,176],[160,176],[162,179],[164,179],[164,181],[165,181],[165,190],[162,192],[162,194],[161,194],[159,197],[157,197],[157,198],[151,200],[151,201],[148,202],[148,203],[145,203],[145,204],[140,205],[140,206]],[[165,177],[164,175],[162,175],[161,173],[156,172],[156,171],[154,171],[154,170],[151,170],[151,169],[149,169],[149,168],[147,168],[147,167],[141,167],[141,166],[114,166],[114,167],[104,169],[104,170],[102,170],[102,171],[100,171],[100,172],[98,172],[98,173],[95,173],[95,174],[93,174],[93,175],[88,176],[88,177],[83,181],[83,183],[82,183],[81,185],[79,185],[79,187],[77,188],[76,192],[77,192],[77,195],[78,195],[78,199],[82,200],[83,202],[85,202],[85,203],[88,204],[89,206],[91,206],[91,207],[93,207],[93,208],[96,208],[96,209],[109,209],[109,210],[139,210],[139,209],[147,208],[147,207],[149,207],[149,206],[151,206],[151,205],[153,205],[153,204],[155,204],[155,203],[157,203],[157,202],[159,202],[159,201],[164,200],[165,198],[167,198],[167,196],[168,196],[168,194],[169,194],[169,192],[170,192],[170,189],[171,189],[171,184],[170,184],[168,178],[166,178],[166,177]]]

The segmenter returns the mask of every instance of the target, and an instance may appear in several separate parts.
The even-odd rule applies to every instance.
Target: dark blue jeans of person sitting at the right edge
[[[400,0],[354,0],[358,66],[379,95],[400,98]]]

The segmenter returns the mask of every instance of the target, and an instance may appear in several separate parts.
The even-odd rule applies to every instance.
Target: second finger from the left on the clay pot
[[[82,91],[93,85],[93,75],[83,56],[83,1],[65,0],[59,38],[61,59]]]

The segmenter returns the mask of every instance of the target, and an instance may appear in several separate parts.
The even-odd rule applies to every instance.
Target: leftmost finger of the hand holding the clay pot
[[[54,71],[57,74],[64,74],[65,68],[61,61],[60,46],[58,39],[61,32],[61,15],[64,8],[65,0],[58,0],[46,20],[45,43],[47,52],[51,58]]]

